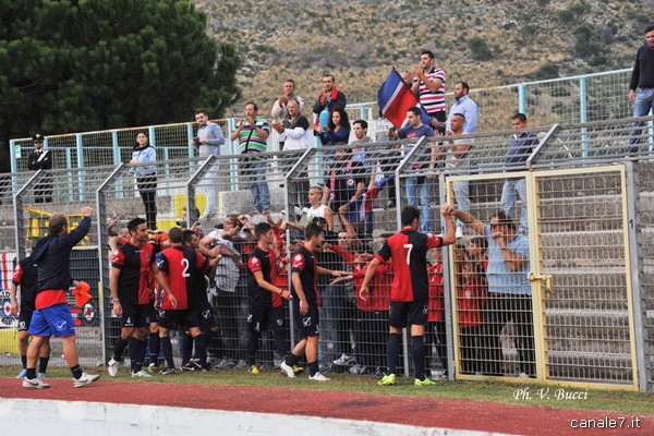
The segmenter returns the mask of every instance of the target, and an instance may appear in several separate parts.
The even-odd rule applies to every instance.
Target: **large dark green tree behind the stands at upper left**
[[[234,48],[191,0],[0,0],[0,141],[213,117],[240,96]],[[9,164],[2,159],[0,171]]]

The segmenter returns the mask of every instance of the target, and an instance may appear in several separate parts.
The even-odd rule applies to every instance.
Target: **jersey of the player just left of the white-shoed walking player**
[[[247,257],[247,302],[252,306],[279,307],[281,298],[277,292],[270,292],[258,286],[255,271],[262,271],[264,280],[270,284],[277,281],[277,262],[275,259],[275,250],[268,249],[267,252],[255,246]]]

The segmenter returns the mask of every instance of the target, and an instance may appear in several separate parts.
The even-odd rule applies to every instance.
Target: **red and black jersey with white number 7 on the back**
[[[443,238],[402,229],[386,240],[375,255],[380,262],[392,259],[391,301],[426,301],[429,296],[427,280],[427,251],[443,245]]]

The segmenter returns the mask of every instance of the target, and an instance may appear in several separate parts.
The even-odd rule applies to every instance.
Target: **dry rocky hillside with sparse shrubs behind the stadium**
[[[348,101],[372,101],[389,69],[433,50],[450,86],[473,88],[630,68],[654,0],[196,0],[208,32],[237,46],[243,99],[267,112],[293,77],[313,102],[332,73]]]

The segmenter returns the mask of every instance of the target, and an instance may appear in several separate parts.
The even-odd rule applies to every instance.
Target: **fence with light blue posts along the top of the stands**
[[[470,97],[477,102],[480,109],[477,132],[507,129],[510,117],[517,111],[526,113],[533,126],[628,118],[632,113],[628,99],[630,74],[631,70],[627,69],[493,88],[476,88],[474,84],[470,84]],[[453,94],[448,93],[446,100],[449,107],[453,101]],[[368,132],[373,137],[387,126],[385,120],[378,118],[376,102],[349,105],[347,110],[351,121],[363,119],[368,122]],[[308,111],[305,114],[307,118],[313,117]],[[221,153],[235,153],[234,144],[229,141],[229,133],[234,130],[238,120],[230,118],[217,122],[226,136]],[[649,129],[652,129],[651,123]],[[146,132],[150,144],[157,148],[158,159],[178,159],[195,155],[190,145],[195,130],[194,123],[178,123],[55,135],[46,136],[46,147],[52,150],[55,168],[126,164],[136,134]],[[376,140],[380,141],[379,137]],[[270,152],[279,150],[277,132],[271,132],[268,144]],[[31,149],[31,138],[10,142],[12,172],[27,168]]]

